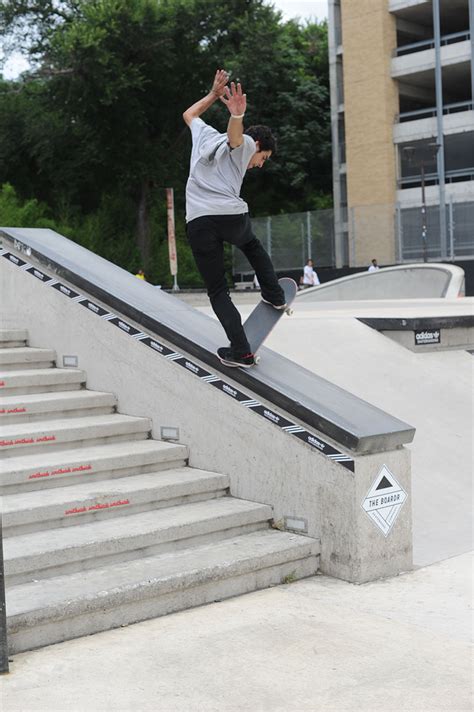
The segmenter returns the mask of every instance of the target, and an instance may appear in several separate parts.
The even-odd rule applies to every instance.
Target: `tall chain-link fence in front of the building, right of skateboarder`
[[[387,261],[396,263],[474,258],[474,201],[448,201],[444,233],[437,205],[428,206],[425,216],[421,206],[364,205],[344,211],[342,218],[337,234],[334,210],[253,218],[252,227],[277,272],[302,270],[310,258],[316,269],[335,267],[336,241],[344,265],[352,267],[369,263],[381,252],[391,254]],[[238,249],[233,251],[233,272],[241,279],[253,274]]]

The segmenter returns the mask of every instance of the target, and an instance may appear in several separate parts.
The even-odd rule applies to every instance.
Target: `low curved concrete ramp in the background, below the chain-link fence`
[[[354,299],[456,298],[464,295],[464,270],[455,265],[414,264],[360,272],[299,292],[304,303]]]

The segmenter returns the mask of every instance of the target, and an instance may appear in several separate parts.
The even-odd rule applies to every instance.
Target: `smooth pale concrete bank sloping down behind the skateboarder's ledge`
[[[474,300],[458,304],[472,309]],[[347,303],[340,309],[297,304],[291,319],[282,319],[271,334],[269,346],[415,425],[416,438],[408,446],[414,562],[425,565],[469,551],[474,356],[467,351],[413,353],[351,317]],[[371,313],[376,309],[374,302]]]

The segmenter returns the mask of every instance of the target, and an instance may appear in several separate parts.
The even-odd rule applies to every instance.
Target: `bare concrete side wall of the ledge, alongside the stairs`
[[[410,568],[406,449],[356,457],[352,473],[3,258],[0,282],[3,328],[28,329],[30,345],[54,348],[59,366],[76,355],[88,388],[115,393],[122,413],[150,417],[153,437],[179,427],[191,466],[228,474],[232,494],[271,504],[279,526],[304,520],[321,539],[322,571],[362,582]],[[383,465],[408,493],[387,537],[361,506]]]

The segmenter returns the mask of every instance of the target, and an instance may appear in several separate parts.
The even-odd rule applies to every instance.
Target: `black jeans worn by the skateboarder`
[[[199,272],[206,284],[212,308],[238,354],[250,351],[239,311],[229,295],[224,271],[224,242],[238,247],[255,270],[262,296],[275,303],[284,299],[273,264],[252,232],[248,213],[204,215],[191,220],[186,232]]]

